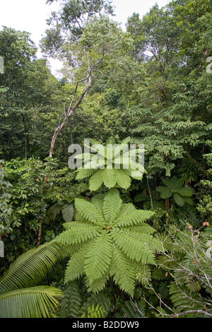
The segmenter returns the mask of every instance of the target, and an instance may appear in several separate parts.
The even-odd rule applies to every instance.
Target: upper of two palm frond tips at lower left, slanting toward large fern
[[[56,263],[61,247],[56,242],[30,249],[14,261],[0,280],[0,292],[37,285]]]

